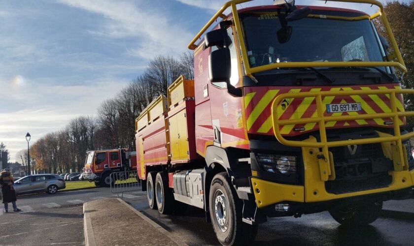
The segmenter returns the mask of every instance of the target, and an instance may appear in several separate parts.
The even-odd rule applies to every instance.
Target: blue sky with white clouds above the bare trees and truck
[[[27,132],[34,143],[72,118],[95,115],[100,102],[137,77],[149,59],[186,51],[224,2],[0,0],[0,142],[11,160],[27,148]]]

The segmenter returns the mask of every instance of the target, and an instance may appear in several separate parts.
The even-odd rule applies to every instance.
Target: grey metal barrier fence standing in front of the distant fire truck
[[[121,171],[110,174],[111,184],[110,190],[116,193],[118,198],[123,199],[124,192],[137,191],[141,187],[141,181],[137,175],[137,171]],[[119,194],[121,193],[121,197]]]

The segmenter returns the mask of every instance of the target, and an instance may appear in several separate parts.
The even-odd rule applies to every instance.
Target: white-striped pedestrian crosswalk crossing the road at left
[[[131,195],[131,193],[136,195]],[[123,194],[123,198],[127,199],[138,199],[146,197],[143,194],[145,194],[142,191],[137,192],[131,192],[130,194]],[[112,196],[118,196],[117,194],[113,194]],[[121,194],[119,194],[119,197],[121,197]],[[67,201],[61,201],[61,202],[50,202],[50,203],[43,203],[43,204],[36,204],[36,205],[19,205],[19,202],[17,202],[17,207],[21,209],[22,211],[19,213],[35,213],[36,211],[42,211],[43,209],[53,209],[53,208],[60,208],[68,205],[80,205],[85,202],[89,201],[96,201],[96,200],[103,200],[103,199],[109,199],[111,197],[104,197],[104,196],[95,196],[95,197],[89,197],[84,200],[75,199],[75,200],[67,200]],[[2,207],[2,206],[0,206]],[[9,204],[9,213],[13,213],[13,208],[11,207],[11,204]],[[0,215],[4,215],[3,209],[0,210]]]

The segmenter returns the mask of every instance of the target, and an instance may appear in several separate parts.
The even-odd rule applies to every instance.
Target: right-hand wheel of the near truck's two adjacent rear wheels
[[[157,201],[158,212],[163,215],[171,214],[173,211],[174,195],[168,182],[163,179],[163,173],[157,173],[155,177],[155,200]]]

